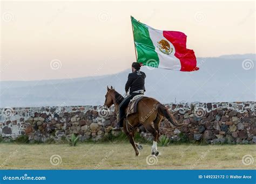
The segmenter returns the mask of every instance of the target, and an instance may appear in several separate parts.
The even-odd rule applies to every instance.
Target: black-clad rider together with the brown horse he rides
[[[125,91],[130,89],[130,94],[124,98],[120,95],[114,88],[107,86],[107,92],[105,95],[104,107],[110,108],[114,105],[115,111],[118,114],[118,124],[115,130],[120,129],[124,126],[124,133],[130,140],[130,143],[135,151],[135,155],[139,155],[138,150],[142,150],[142,145],[135,143],[134,135],[140,125],[150,132],[153,136],[153,145],[151,148],[151,154],[158,155],[157,140],[160,136],[159,125],[161,119],[165,117],[172,126],[183,126],[182,124],[177,124],[177,121],[173,118],[172,113],[154,98],[151,97],[141,97],[135,102],[136,111],[126,117],[126,123],[123,124],[125,117],[125,109],[129,105],[130,100],[140,94],[144,94],[145,87],[145,73],[140,72],[140,65],[137,62],[132,63],[132,73],[129,74],[128,80],[125,85]]]

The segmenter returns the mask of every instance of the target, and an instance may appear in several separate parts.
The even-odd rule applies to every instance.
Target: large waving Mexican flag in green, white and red
[[[198,70],[194,51],[186,48],[187,36],[160,31],[131,17],[137,62],[143,66],[192,72]]]

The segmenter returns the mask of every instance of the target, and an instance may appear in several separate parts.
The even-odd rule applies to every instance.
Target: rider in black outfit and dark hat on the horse
[[[123,121],[125,117],[125,108],[128,106],[130,100],[136,95],[144,94],[145,90],[145,78],[146,74],[140,72],[140,64],[138,62],[132,63],[132,73],[128,75],[128,80],[125,84],[125,92],[130,88],[130,93],[124,98],[124,100],[119,104],[118,107],[118,123],[113,130],[119,130],[123,127]]]

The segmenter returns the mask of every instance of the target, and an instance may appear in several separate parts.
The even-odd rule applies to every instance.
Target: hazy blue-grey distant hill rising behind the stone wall
[[[253,68],[242,62],[252,60]],[[198,58],[197,72],[165,69],[146,73],[146,95],[162,103],[255,101],[255,54]],[[1,107],[53,105],[99,105],[105,100],[107,85],[124,94],[128,73],[123,72],[77,79],[0,82]]]

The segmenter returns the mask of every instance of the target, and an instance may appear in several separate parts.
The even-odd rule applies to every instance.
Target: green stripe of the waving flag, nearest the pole
[[[149,29],[144,24],[131,17],[134,43],[137,49],[137,62],[144,66],[158,67],[159,58],[150,38]]]

